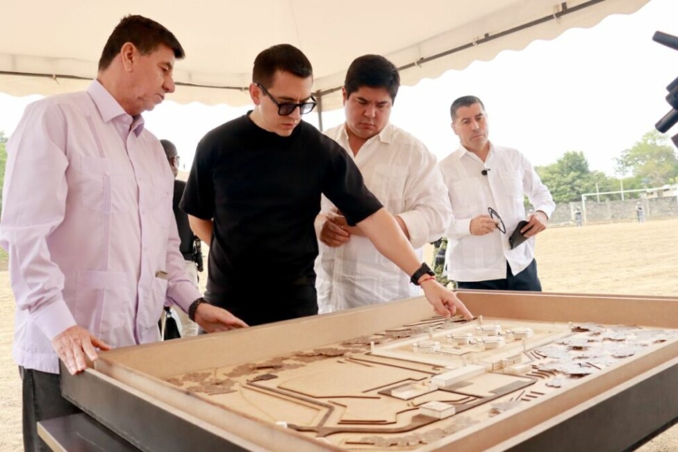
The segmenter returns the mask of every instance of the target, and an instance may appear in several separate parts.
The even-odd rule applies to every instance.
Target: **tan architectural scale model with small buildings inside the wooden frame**
[[[540,403],[677,335],[641,326],[436,317],[164,380],[342,449],[408,450]]]

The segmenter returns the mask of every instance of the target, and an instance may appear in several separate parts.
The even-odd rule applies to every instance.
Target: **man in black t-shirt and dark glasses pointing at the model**
[[[325,194],[349,225],[361,226],[384,256],[421,283],[436,312],[447,317],[459,308],[470,318],[419,262],[344,149],[301,121],[315,107],[312,85],[311,63],[299,49],[266,49],[249,85],[254,110],[198,144],[180,206],[210,244],[205,299],[249,325],[316,314],[313,223]]]

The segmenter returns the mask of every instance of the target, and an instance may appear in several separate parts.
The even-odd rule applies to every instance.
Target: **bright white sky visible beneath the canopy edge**
[[[584,151],[591,169],[613,175],[613,159],[670,110],[665,87],[678,76],[678,51],[652,41],[652,35],[657,30],[678,35],[677,17],[677,0],[651,0],[633,15],[607,17],[593,28],[570,29],[555,40],[401,87],[391,122],[444,158],[458,146],[449,104],[474,94],[486,105],[496,144],[520,149],[534,165]],[[35,99],[0,93],[0,130],[10,135]],[[167,101],[144,117],[158,138],[177,145],[188,167],[207,131],[247,109]],[[305,118],[317,124],[315,112]],[[325,128],[343,119],[342,110],[323,113]]]

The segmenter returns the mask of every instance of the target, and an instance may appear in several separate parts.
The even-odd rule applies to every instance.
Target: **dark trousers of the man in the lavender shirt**
[[[38,437],[38,421],[81,412],[61,395],[61,376],[19,366],[23,389],[24,451],[51,451]]]

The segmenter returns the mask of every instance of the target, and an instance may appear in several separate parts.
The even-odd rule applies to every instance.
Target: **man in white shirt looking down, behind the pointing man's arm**
[[[356,58],[342,89],[346,122],[325,135],[354,159],[365,185],[395,216],[421,258],[421,247],[445,233],[450,210],[435,156],[422,142],[388,122],[399,85],[397,68],[383,56]],[[361,228],[349,227],[324,196],[316,232],[320,313],[421,293],[406,274],[381,256]]]

